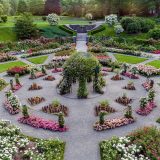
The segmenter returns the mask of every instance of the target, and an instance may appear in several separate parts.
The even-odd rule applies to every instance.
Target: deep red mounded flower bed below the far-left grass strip
[[[19,74],[20,76],[29,74],[29,69],[27,67],[13,67],[7,71],[9,76],[14,76]]]

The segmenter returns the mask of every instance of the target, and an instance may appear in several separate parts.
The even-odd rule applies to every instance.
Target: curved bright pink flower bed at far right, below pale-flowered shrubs
[[[136,112],[137,114],[139,115],[142,115],[142,116],[147,116],[149,113],[152,112],[152,110],[156,107],[155,103],[154,102],[149,102],[146,107],[144,107],[144,109],[138,109]]]

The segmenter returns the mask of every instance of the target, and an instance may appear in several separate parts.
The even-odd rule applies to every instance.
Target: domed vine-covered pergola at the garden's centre
[[[100,75],[101,65],[97,58],[90,53],[74,53],[63,66],[63,79],[58,88],[61,95],[71,92],[72,83],[79,82],[78,98],[87,98],[87,82],[93,82],[93,91],[102,94],[104,83]]]

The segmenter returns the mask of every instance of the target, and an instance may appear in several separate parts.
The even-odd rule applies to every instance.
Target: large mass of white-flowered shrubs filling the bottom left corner
[[[64,142],[56,139],[36,139],[24,136],[20,129],[9,121],[0,121],[0,159],[54,160],[64,157]]]

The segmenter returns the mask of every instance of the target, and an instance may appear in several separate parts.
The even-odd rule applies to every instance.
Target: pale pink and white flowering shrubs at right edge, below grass
[[[160,69],[157,69],[153,66],[149,66],[149,65],[138,65],[136,66],[139,74],[143,75],[143,76],[156,76],[160,74]]]

